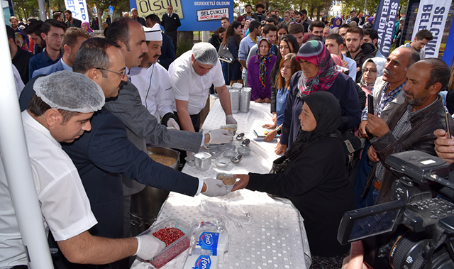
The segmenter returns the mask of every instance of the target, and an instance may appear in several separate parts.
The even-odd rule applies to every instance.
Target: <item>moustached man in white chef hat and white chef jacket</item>
[[[148,53],[138,67],[131,68],[131,82],[137,87],[142,104],[167,127],[179,130],[172,109],[172,84],[167,70],[157,62],[161,55],[162,34],[159,24],[144,27]]]

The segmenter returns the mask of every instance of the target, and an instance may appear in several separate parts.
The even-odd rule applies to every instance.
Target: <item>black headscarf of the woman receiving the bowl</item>
[[[314,114],[317,125],[310,132],[303,131],[300,127],[297,140],[285,153],[287,158],[297,153],[311,140],[329,133],[336,133],[341,126],[341,106],[331,92],[312,92],[303,97],[303,101]]]

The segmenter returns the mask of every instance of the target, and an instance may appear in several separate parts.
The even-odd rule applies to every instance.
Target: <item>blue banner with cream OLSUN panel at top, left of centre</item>
[[[130,0],[129,4],[143,18],[152,13],[161,18],[167,13],[167,6],[172,5],[182,23],[178,31],[214,31],[221,27],[224,16],[233,21],[233,0]]]

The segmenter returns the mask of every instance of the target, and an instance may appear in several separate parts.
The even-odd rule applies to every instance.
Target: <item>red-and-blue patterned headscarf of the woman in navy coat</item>
[[[306,78],[304,73],[299,77],[299,97],[305,97],[311,92],[325,92],[334,84],[339,72],[336,63],[326,49],[326,46],[318,40],[310,40],[299,48],[297,60],[306,60],[319,67],[315,77]]]

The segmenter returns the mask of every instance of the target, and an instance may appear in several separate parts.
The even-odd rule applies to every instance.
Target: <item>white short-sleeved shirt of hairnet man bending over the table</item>
[[[201,76],[194,71],[191,56],[192,50],[189,50],[173,61],[169,67],[169,75],[175,99],[189,101],[189,115],[196,115],[206,105],[211,84],[214,84],[214,87],[222,87],[226,82],[223,79],[219,60],[209,72]],[[175,103],[173,109],[177,111]]]

